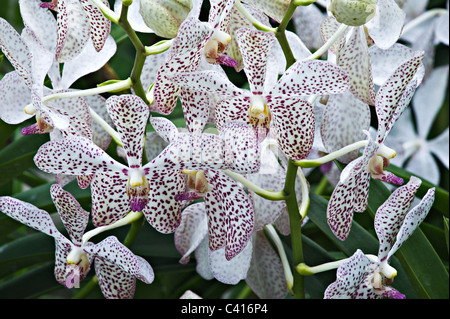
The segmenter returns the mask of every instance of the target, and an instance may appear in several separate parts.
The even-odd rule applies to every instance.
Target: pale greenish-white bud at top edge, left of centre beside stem
[[[141,0],[139,12],[156,35],[175,38],[192,9],[192,0]]]

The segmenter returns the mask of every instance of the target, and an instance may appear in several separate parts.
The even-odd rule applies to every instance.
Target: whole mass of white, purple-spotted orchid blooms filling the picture
[[[0,81],[0,117],[10,124],[35,117],[22,134],[50,134],[34,162],[55,177],[51,196],[70,240],[48,212],[30,203],[3,196],[0,211],[55,238],[55,276],[68,288],[92,263],[106,298],[132,298],[136,278],[152,283],[148,261],[116,237],[90,241],[145,216],[157,231],[174,234],[180,263],[195,253],[202,277],[227,284],[245,279],[261,298],[284,298],[293,278],[278,233],[290,234],[293,215],[307,222],[307,169],[337,159],[346,166],[326,216],[341,240],[353,214],[367,208],[371,179],[398,185],[376,212],[378,256],[358,250],[293,271],[338,268],[325,298],[404,298],[389,286],[397,275],[389,260],[426,217],[434,189],[411,209],[421,180],[385,170],[396,156],[387,137],[403,138],[397,145],[410,142],[395,124],[411,117],[411,101],[420,120],[428,111],[415,100],[427,94],[419,90],[447,80],[448,66],[428,72],[433,58],[422,42],[448,45],[448,10],[416,23],[423,12],[414,1],[209,2],[204,22],[200,0],[116,0],[113,8],[106,0],[19,0],[22,32],[0,19],[0,48],[15,69]],[[272,24],[282,27],[291,17],[298,34],[282,30],[280,36]],[[124,27],[140,49],[132,76],[71,88],[116,52],[111,23]],[[422,27],[431,30],[426,40],[414,35]],[[167,40],[146,47],[132,37],[136,32]],[[401,37],[411,45],[400,44]],[[245,73],[249,87],[233,84],[224,66]],[[114,94],[127,89],[131,93]],[[436,92],[436,108],[443,94]],[[180,102],[186,128],[165,117]],[[425,142],[430,126],[431,120],[419,121],[421,145],[428,143],[422,160],[434,161],[433,152],[448,167],[442,148],[448,150],[448,129]],[[408,133],[417,136],[412,128]],[[111,142],[123,163],[105,151]],[[91,212],[63,189],[74,178],[90,187]],[[287,178],[294,179],[290,189]],[[288,190],[295,193],[293,205]],[[95,228],[85,232],[89,220]]]

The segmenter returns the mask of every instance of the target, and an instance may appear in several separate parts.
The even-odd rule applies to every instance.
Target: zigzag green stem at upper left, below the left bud
[[[146,97],[146,92],[142,86],[141,73],[144,67],[145,58],[147,57],[145,46],[142,44],[141,40],[137,36],[136,32],[131,27],[127,19],[128,6],[122,6],[122,11],[120,13],[119,25],[127,33],[128,38],[130,38],[131,43],[133,43],[136,49],[136,56],[134,59],[133,69],[131,71],[130,79],[133,82],[134,93],[144,100],[145,103],[150,104]]]

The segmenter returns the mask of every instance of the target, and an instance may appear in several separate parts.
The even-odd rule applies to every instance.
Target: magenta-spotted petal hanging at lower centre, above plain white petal
[[[244,190],[224,173],[208,171],[206,178],[214,190],[205,197],[210,248],[225,245],[225,257],[230,260],[244,249],[253,231],[253,206]]]

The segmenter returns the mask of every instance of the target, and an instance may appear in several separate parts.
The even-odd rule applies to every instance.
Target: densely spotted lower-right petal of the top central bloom
[[[314,141],[313,106],[300,98],[274,97],[269,108],[280,149],[290,159],[306,158]]]

